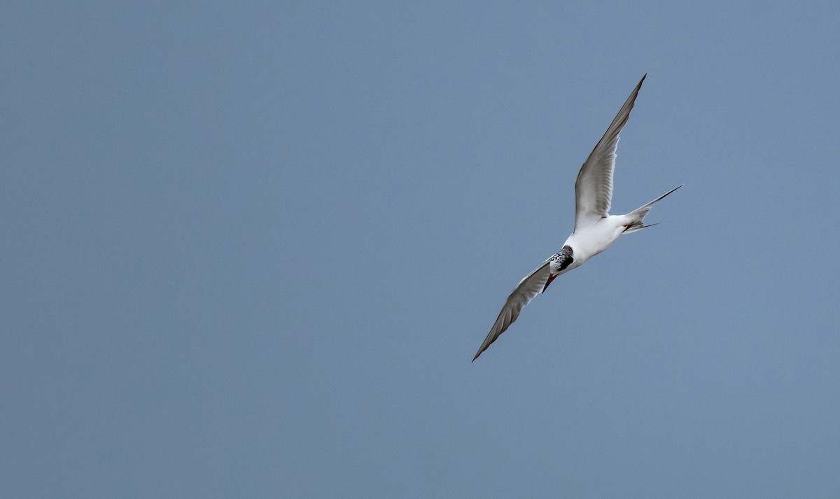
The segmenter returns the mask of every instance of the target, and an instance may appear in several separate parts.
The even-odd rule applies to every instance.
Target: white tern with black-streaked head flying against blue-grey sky
[[[528,305],[528,302],[531,302],[538,294],[545,292],[555,277],[583,265],[586,260],[609,248],[618,236],[650,227],[643,224],[650,207],[654,202],[681,187],[676,186],[654,201],[626,215],[608,213],[612,202],[612,171],[616,166],[618,134],[624,128],[624,123],[627,123],[627,118],[630,117],[633,102],[636,101],[638,90],[642,87],[646,76],[648,75],[642,76],[642,80],[633,89],[630,97],[627,97],[627,102],[624,102],[604,136],[580,167],[575,181],[575,230],[569,239],[566,239],[562,250],[545,260],[543,265],[539,265],[535,271],[522,279],[511,296],[507,297],[507,302],[504,307],[501,307],[496,323],[493,324],[484,343],[473,357],[473,361],[478,359],[481,352],[496,341],[496,338],[504,333],[513,321],[517,320],[522,307]]]

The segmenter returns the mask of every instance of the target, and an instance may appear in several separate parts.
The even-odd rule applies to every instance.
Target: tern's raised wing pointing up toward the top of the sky
[[[612,171],[616,167],[618,134],[630,117],[630,110],[633,109],[633,102],[636,101],[638,89],[642,87],[645,76],[648,75],[642,76],[642,80],[610,123],[610,128],[606,129],[604,136],[580,167],[575,181],[575,232],[596,223],[610,212]]]

